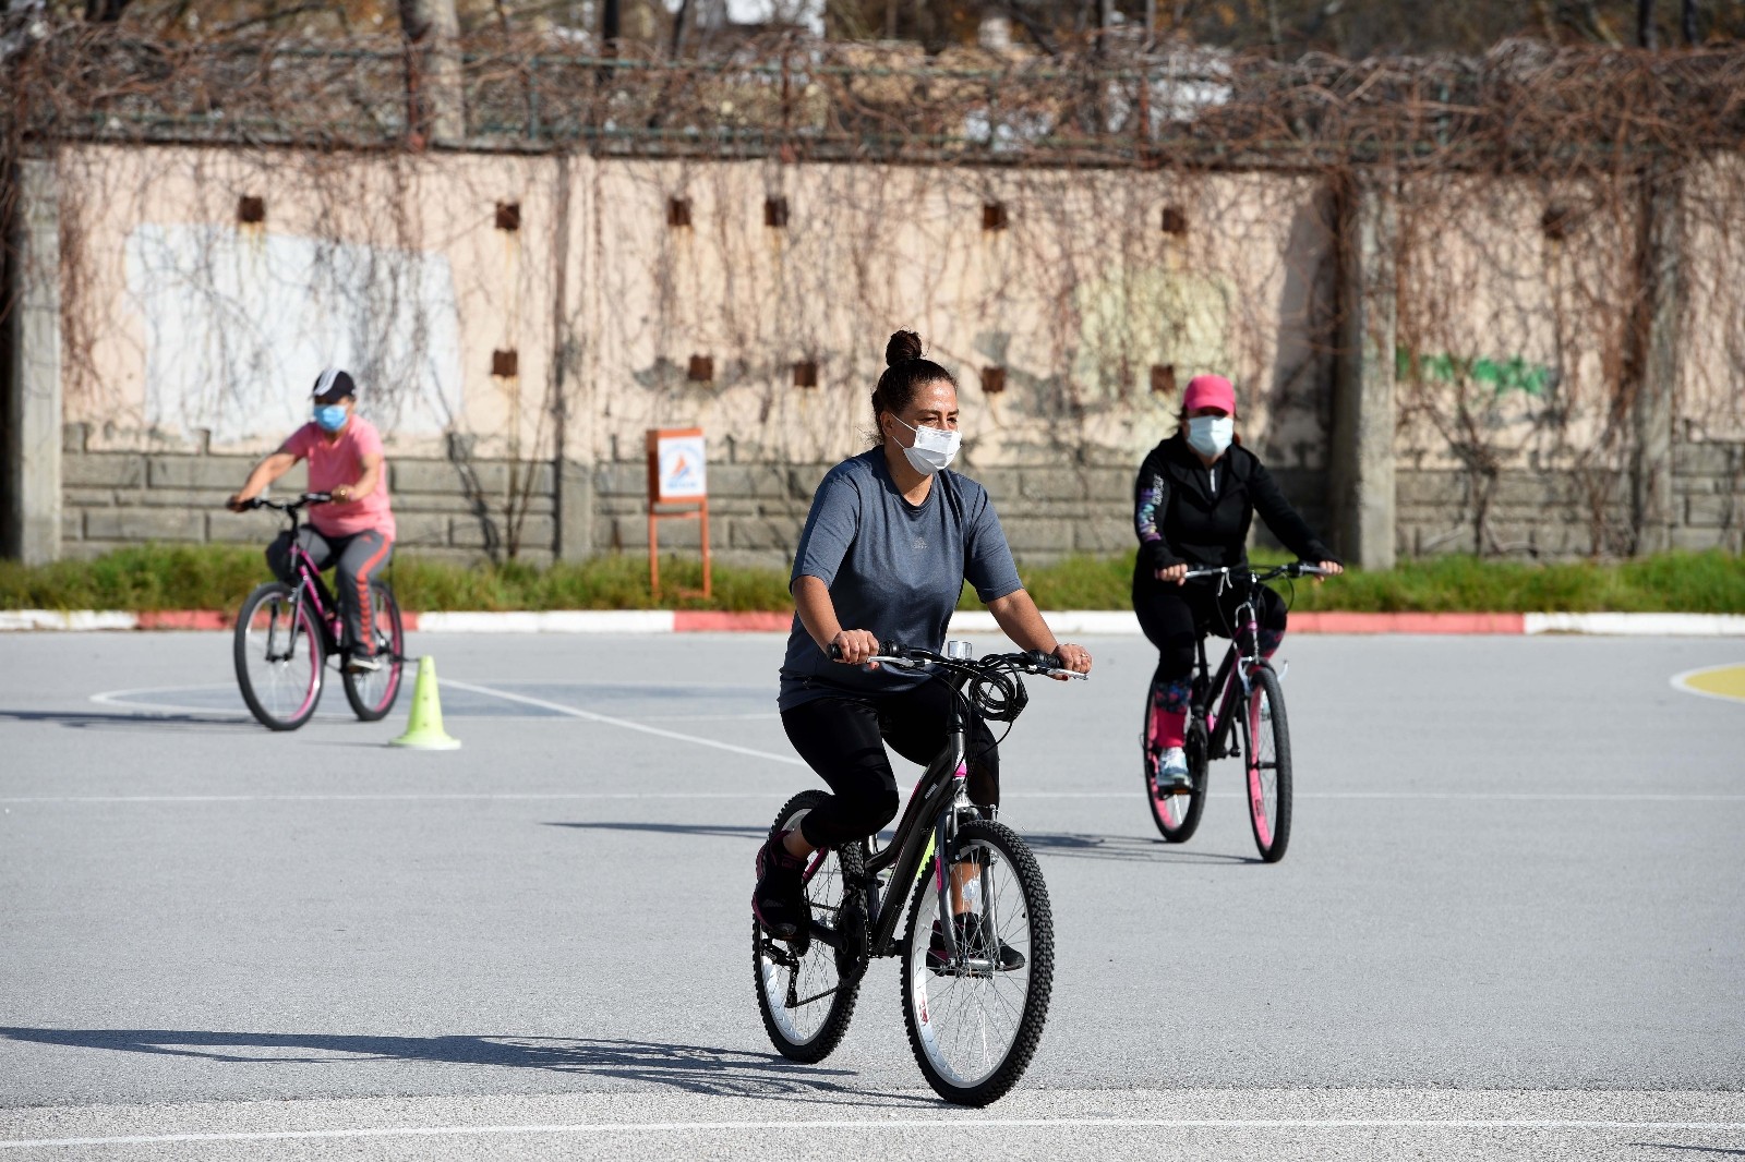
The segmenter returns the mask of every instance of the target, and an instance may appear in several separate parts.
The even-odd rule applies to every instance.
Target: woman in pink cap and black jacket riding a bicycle
[[[1181,396],[1180,420],[1176,433],[1146,454],[1133,487],[1139,536],[1133,611],[1157,646],[1148,731],[1157,743],[1146,761],[1155,766],[1159,794],[1192,790],[1183,747],[1194,647],[1208,628],[1228,637],[1242,602],[1237,588],[1185,584],[1188,567],[1248,567],[1248,529],[1260,513],[1297,557],[1344,572],[1260,457],[1235,441],[1235,389],[1228,379],[1195,375]],[[1253,597],[1260,651],[1270,658],[1284,640],[1284,600],[1265,586],[1255,586]]]

